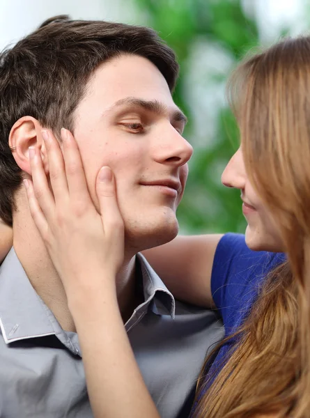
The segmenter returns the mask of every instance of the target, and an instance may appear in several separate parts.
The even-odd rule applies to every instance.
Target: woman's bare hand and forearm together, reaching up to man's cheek
[[[51,132],[45,139],[52,191],[40,153],[30,148],[32,181],[25,186],[77,327],[94,417],[160,418],[118,309],[116,274],[123,263],[124,231],[113,174],[108,167],[98,174],[100,215],[88,193],[77,144],[68,131],[62,137],[63,156]]]

